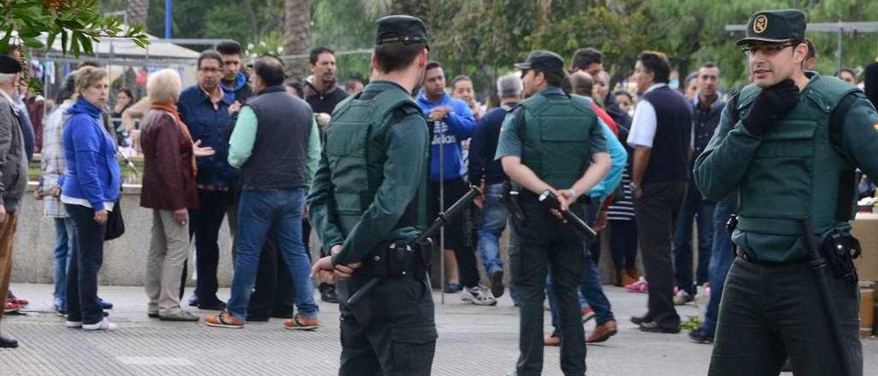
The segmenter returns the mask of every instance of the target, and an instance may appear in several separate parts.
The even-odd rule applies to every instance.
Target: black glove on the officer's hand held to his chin
[[[761,136],[774,122],[787,115],[799,103],[799,87],[792,79],[786,79],[765,88],[753,100],[750,112],[744,118],[747,132]]]

